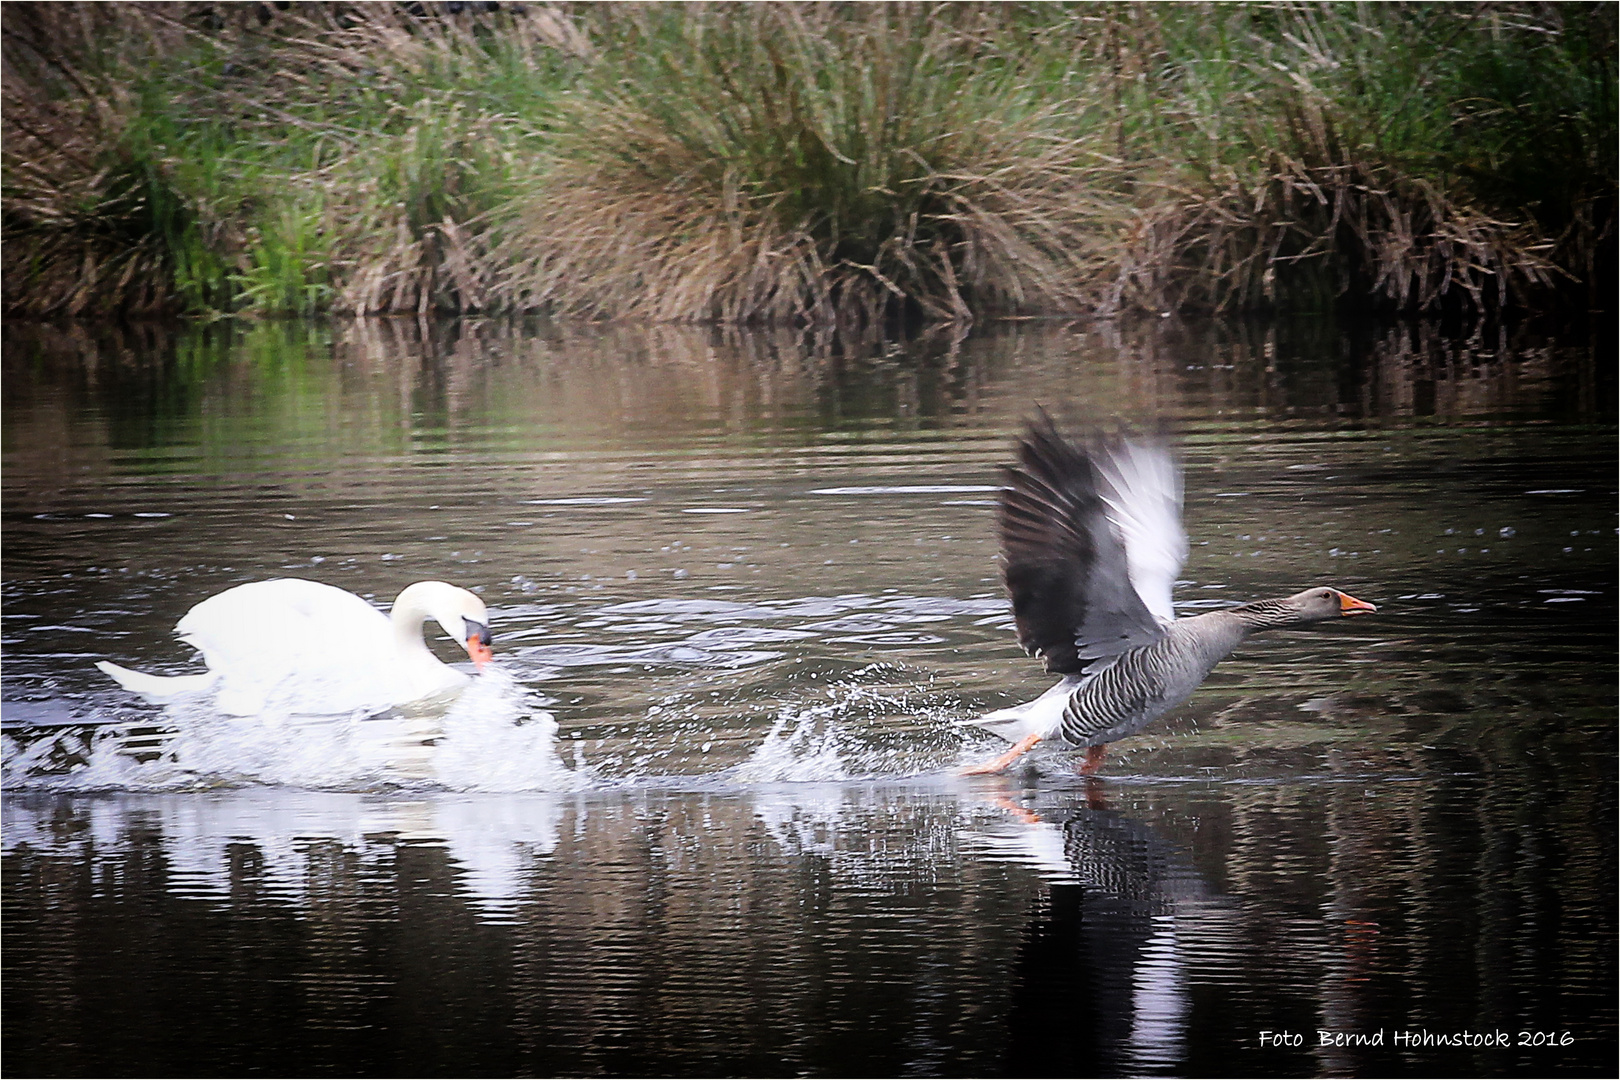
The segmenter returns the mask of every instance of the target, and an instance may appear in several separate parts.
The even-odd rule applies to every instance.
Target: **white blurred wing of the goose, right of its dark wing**
[[[1092,458],[1108,521],[1124,544],[1131,588],[1160,622],[1173,622],[1170,594],[1187,560],[1181,528],[1181,468],[1162,442],[1126,439]]]

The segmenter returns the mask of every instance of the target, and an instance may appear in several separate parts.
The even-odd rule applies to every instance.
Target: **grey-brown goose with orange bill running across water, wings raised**
[[[1191,698],[1249,635],[1377,610],[1312,588],[1176,619],[1170,593],[1187,538],[1181,471],[1163,439],[1071,440],[1042,415],[1017,457],[1001,491],[1003,580],[1019,644],[1063,678],[1035,701],[969,721],[1013,748],[964,774],[1001,772],[1042,740],[1085,748],[1081,771],[1095,772],[1108,743]]]

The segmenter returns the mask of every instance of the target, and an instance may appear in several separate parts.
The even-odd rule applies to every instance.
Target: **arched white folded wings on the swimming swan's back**
[[[219,674],[225,712],[347,712],[394,696],[387,615],[330,585],[238,585],[193,607],[175,630]]]

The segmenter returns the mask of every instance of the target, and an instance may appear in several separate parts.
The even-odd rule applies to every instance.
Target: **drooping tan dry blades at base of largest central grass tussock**
[[[496,249],[504,306],[651,321],[875,321],[1077,309],[1098,274],[1100,220],[1118,210],[1072,144],[1032,155],[1013,128],[970,165],[896,181],[917,206],[867,253],[826,223],[745,191],[645,117],[603,108],[596,131],[638,133],[638,159],[559,160]],[[718,198],[716,198],[718,196]],[[1102,204],[1102,206],[1098,206]]]

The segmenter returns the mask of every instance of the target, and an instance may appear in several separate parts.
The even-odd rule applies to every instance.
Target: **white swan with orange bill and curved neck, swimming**
[[[384,615],[353,593],[296,578],[253,581],[211,596],[175,623],[202,653],[201,675],[146,675],[99,661],[125,690],[159,701],[215,691],[228,716],[386,709],[458,691],[468,675],[423,641],[433,619],[473,664],[491,659],[484,602],[444,581],[418,581]]]

